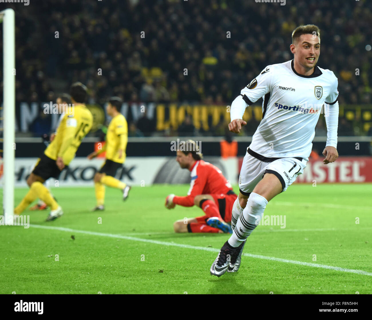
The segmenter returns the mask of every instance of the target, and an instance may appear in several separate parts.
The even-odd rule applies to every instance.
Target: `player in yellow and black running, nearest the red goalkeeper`
[[[119,112],[121,105],[121,98],[110,98],[106,110],[112,120],[107,129],[105,146],[100,151],[95,151],[88,155],[88,159],[91,160],[106,151],[106,161],[100,171],[94,175],[97,206],[92,211],[105,210],[105,185],[122,190],[123,200],[128,198],[129,190],[131,190],[129,185],[115,179],[116,171],[122,167],[125,161],[125,150],[128,142],[128,123],[126,123],[125,117]]]

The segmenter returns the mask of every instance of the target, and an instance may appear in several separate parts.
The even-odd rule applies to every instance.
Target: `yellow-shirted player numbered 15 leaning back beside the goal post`
[[[34,200],[40,198],[51,212],[47,221],[52,221],[62,216],[62,208],[52,197],[43,182],[50,177],[58,179],[62,169],[75,157],[75,152],[81,140],[92,128],[93,116],[84,102],[87,97],[87,88],[80,82],[71,85],[71,108],[65,111],[53,141],[45,149],[44,154],[38,159],[35,168],[27,179],[30,190],[20,204],[14,209],[15,214],[20,214]]]

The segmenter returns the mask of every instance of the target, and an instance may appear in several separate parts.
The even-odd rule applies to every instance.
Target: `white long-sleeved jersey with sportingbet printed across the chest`
[[[242,119],[247,105],[262,97],[262,120],[249,148],[266,157],[308,160],[320,113],[325,112],[326,146],[337,148],[337,85],[328,69],[316,66],[305,76],[295,71],[294,60],[268,65],[231,104],[231,121]]]

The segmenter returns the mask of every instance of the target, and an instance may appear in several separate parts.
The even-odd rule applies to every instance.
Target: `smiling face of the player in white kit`
[[[320,55],[320,41],[318,36],[301,35],[295,44],[295,59],[302,67],[310,70],[315,67]]]

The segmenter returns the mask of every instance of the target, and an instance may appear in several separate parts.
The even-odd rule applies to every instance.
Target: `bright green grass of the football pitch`
[[[211,250],[220,249],[228,235],[174,234],[175,220],[203,212],[197,207],[164,207],[166,195],[184,195],[188,188],[134,187],[126,202],[120,191],[106,188],[106,210],[98,213],[90,212],[93,187],[53,188],[64,216],[44,222],[48,211],[23,214],[36,226],[73,230],[0,226],[0,293],[372,292],[372,184],[294,184],[265,211],[268,216],[285,215],[285,228],[258,226],[244,248],[252,255],[369,275],[243,256],[236,274],[211,276],[209,268],[217,256]],[[26,191],[15,191],[16,204]]]

